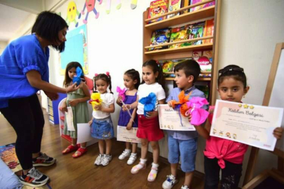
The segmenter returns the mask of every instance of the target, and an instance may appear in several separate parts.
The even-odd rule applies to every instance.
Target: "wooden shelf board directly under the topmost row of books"
[[[199,10],[195,10],[190,13],[185,13],[182,15],[176,15],[173,18],[168,18],[165,20],[161,20],[160,22],[154,22],[151,24],[146,24],[145,28],[154,31],[156,29],[163,29],[166,27],[172,27],[175,25],[182,25],[187,22],[201,20],[204,18],[212,17],[215,13],[215,6],[208,6],[207,8],[202,8]]]

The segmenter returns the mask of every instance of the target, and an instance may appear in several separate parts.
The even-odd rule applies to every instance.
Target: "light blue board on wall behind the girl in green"
[[[60,53],[60,75],[65,75],[65,68],[69,62],[79,62],[84,74],[88,74],[88,40],[87,26],[82,25],[67,32],[65,50]]]

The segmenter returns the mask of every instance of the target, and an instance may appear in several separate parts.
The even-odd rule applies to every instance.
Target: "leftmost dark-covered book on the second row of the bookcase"
[[[168,43],[169,41],[170,41],[170,28],[158,29],[156,31],[153,31],[152,33],[150,46]],[[149,48],[149,50],[158,50],[164,48],[168,48],[168,45],[156,48]]]

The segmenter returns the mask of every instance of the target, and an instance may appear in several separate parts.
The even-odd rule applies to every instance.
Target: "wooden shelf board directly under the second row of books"
[[[153,50],[153,51],[147,51],[144,52],[145,55],[163,55],[163,54],[170,54],[170,53],[176,53],[176,52],[190,52],[192,50],[202,50],[202,49],[208,49],[212,48],[212,43],[206,43],[201,45],[190,45],[187,47],[181,47],[181,48],[166,48],[162,50]]]

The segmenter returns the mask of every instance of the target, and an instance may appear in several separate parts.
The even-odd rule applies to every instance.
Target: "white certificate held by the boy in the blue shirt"
[[[161,130],[195,131],[194,125],[189,123],[189,118],[182,116],[168,104],[158,105],[158,121]]]

